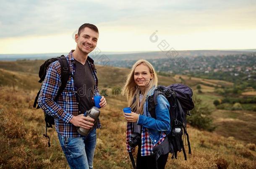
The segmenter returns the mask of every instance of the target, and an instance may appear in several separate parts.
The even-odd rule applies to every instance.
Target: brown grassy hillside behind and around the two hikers
[[[0,166],[3,168],[68,168],[58,143],[57,134],[50,129],[50,148],[45,132],[44,115],[34,109],[34,97],[39,89],[37,71],[43,61],[0,62]],[[123,86],[129,73],[127,68],[97,66],[99,87]],[[211,81],[185,76],[159,76],[159,84],[183,82],[194,89],[194,95],[213,111],[217,128],[213,132],[198,130],[188,125],[192,155],[177,160],[169,154],[166,168],[256,168],[256,125],[253,111],[217,110],[214,99],[222,98],[213,92],[213,86],[225,81]],[[209,83],[210,84],[209,84]],[[203,93],[197,93],[200,84]],[[107,107],[102,108],[102,129],[97,131],[95,169],[130,169],[131,161],[125,151],[126,122],[122,108],[127,106],[124,97],[107,97]],[[187,149],[187,147],[186,147]],[[188,151],[186,151],[188,152]]]

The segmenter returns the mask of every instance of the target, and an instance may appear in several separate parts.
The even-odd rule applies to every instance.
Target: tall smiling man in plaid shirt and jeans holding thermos
[[[84,112],[94,106],[93,96],[98,92],[98,79],[94,61],[88,54],[94,50],[99,38],[95,25],[85,23],[75,35],[76,50],[66,56],[70,66],[68,83],[63,92],[54,101],[60,88],[60,62],[50,64],[39,95],[39,106],[55,119],[55,129],[60,145],[71,169],[92,169],[96,146],[96,128],[100,128],[98,119],[84,117]],[[105,107],[106,99],[102,96],[99,105]],[[84,137],[77,132],[78,127],[91,129]]]

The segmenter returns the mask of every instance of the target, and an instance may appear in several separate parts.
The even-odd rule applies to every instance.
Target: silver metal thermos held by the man
[[[88,110],[84,113],[84,116],[90,116],[92,119],[94,119],[94,125],[95,125],[95,123],[97,123],[97,120],[99,119],[99,114],[100,114],[99,108],[93,106],[90,110]],[[91,131],[91,129],[92,128],[84,129],[84,128],[80,127],[79,129],[77,129],[77,131],[79,134],[81,134],[83,136],[87,136],[89,134],[89,132]]]

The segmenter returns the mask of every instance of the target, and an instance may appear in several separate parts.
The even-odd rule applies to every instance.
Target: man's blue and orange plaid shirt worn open
[[[54,98],[57,95],[57,91],[61,85],[61,68],[59,61],[51,63],[48,67],[47,74],[42,83],[41,92],[38,99],[38,105],[43,109],[43,111],[54,117],[55,129],[57,133],[65,137],[81,136],[77,132],[78,128],[69,123],[73,116],[78,116],[81,114],[77,88],[72,77],[73,73],[76,71],[76,66],[74,65],[74,58],[72,54],[73,51],[74,50],[71,50],[71,52],[66,56],[72,75],[69,77],[65,89],[60,94],[57,101],[55,102]],[[94,61],[89,56],[87,61],[89,62],[89,66],[95,80],[94,91],[98,92],[98,78],[96,75],[97,72],[94,66]],[[97,127],[101,128],[99,119]]]

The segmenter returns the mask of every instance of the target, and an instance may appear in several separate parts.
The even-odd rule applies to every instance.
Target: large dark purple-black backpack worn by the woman
[[[155,106],[157,105],[157,96],[162,94],[167,98],[170,103],[170,124],[171,124],[171,132],[168,134],[169,140],[169,151],[172,153],[172,159],[175,157],[177,159],[177,153],[181,150],[183,151],[184,158],[187,160],[187,156],[184,149],[183,138],[185,135],[188,140],[188,154],[191,154],[191,147],[189,142],[189,136],[186,130],[186,115],[191,115],[190,110],[194,108],[194,103],[192,100],[193,91],[190,87],[184,84],[172,84],[170,86],[157,86],[154,91],[154,94],[148,98],[148,110],[152,118],[156,119],[155,114]],[[184,137],[183,137],[184,134]],[[186,139],[186,138],[185,138]],[[165,151],[165,150],[163,150]],[[161,155],[162,152],[159,151]]]

